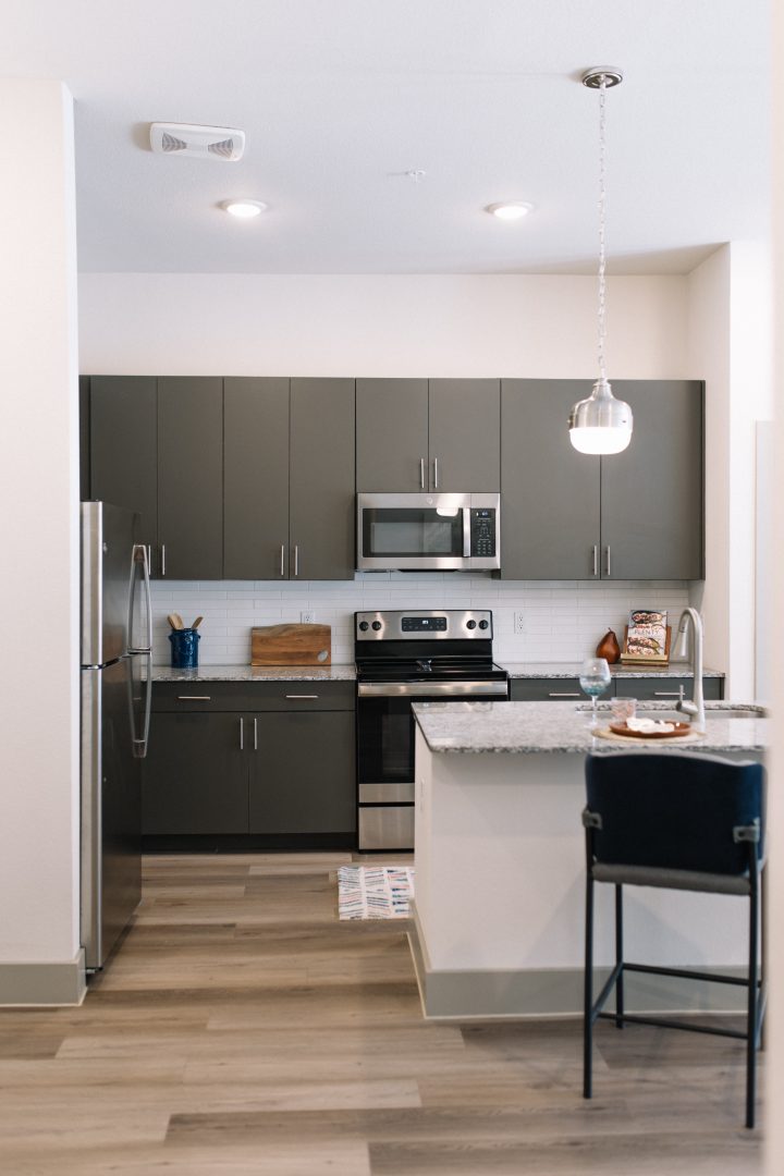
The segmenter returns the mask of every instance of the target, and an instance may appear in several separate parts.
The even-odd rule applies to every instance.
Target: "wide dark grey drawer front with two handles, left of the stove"
[[[355,682],[155,682],[153,710],[353,710]]]

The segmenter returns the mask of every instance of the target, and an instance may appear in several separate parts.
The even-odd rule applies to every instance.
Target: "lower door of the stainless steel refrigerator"
[[[81,942],[101,968],[141,897],[133,662],[81,673]]]

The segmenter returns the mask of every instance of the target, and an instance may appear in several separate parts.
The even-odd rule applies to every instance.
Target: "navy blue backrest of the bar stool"
[[[763,856],[764,768],[691,753],[589,755],[596,862],[741,875],[755,823]],[[594,823],[594,822],[591,822]]]

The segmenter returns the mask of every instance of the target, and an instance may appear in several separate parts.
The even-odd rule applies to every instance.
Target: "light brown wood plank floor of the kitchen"
[[[0,1010],[4,1176],[759,1176],[741,1043],[599,1024],[585,1102],[578,1020],[422,1020],[362,860],[147,857],[82,1007]]]

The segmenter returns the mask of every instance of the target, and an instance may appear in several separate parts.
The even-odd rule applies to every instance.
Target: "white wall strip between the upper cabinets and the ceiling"
[[[689,370],[685,278],[608,282],[610,379]],[[103,375],[596,375],[596,279],[82,274]],[[590,388],[589,388],[590,390]]]

